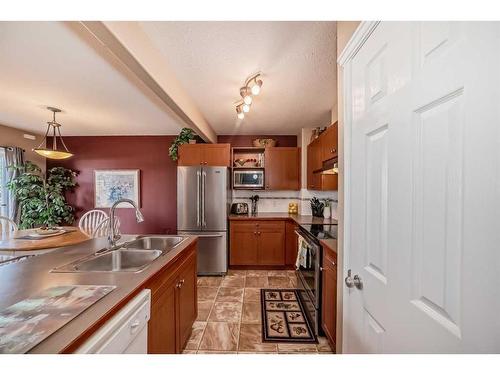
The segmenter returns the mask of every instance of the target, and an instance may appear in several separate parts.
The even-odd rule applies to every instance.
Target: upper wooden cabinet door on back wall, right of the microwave
[[[299,148],[268,147],[264,157],[267,190],[300,190]]]

